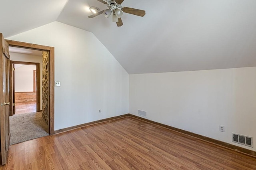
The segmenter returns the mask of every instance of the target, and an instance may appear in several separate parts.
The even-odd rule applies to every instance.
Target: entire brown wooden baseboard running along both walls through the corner
[[[161,127],[164,127],[164,128],[168,128],[170,130],[174,130],[175,132],[179,132],[181,135],[184,135],[186,137],[196,138],[197,140],[202,140],[204,142],[208,142],[208,143],[214,144],[216,146],[224,147],[224,148],[236,151],[238,153],[246,154],[247,156],[251,156],[253,158],[256,157],[256,152],[253,151],[253,150],[242,148],[242,147],[239,147],[239,146],[236,146],[236,145],[232,145],[232,144],[229,144],[229,143],[226,143],[226,142],[222,142],[220,140],[212,139],[212,138],[202,136],[200,134],[192,133],[192,132],[189,132],[189,131],[186,131],[186,130],[182,130],[182,129],[179,129],[179,128],[164,125],[162,123],[154,122],[154,121],[142,118],[142,117],[138,117],[136,115],[132,115],[130,113],[125,114],[125,115],[116,116],[116,117],[110,117],[110,118],[102,119],[102,120],[98,120],[98,121],[93,121],[93,122],[89,122],[89,123],[84,123],[82,125],[76,125],[76,126],[73,126],[73,127],[63,128],[63,129],[60,129],[60,130],[55,130],[54,134],[58,134],[58,133],[61,133],[61,132],[66,132],[66,131],[73,130],[73,129],[76,129],[76,128],[85,127],[85,126],[88,126],[88,125],[93,125],[93,124],[97,124],[97,123],[112,121],[112,120],[120,119],[120,118],[127,117],[127,116],[130,116],[130,117],[133,117],[133,118],[136,118],[136,119],[140,119],[142,121],[146,121],[148,123],[152,123],[154,125],[158,125],[158,126],[161,126]]]

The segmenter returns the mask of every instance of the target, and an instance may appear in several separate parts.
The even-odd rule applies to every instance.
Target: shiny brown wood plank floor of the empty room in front
[[[256,170],[256,158],[124,117],[12,145],[0,169]]]

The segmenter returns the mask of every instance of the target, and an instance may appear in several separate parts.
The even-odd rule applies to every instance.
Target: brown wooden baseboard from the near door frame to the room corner
[[[115,119],[120,119],[122,117],[126,117],[126,116],[129,116],[129,115],[130,114],[125,114],[125,115],[110,117],[110,118],[101,119],[101,120],[93,121],[93,122],[89,122],[89,123],[84,123],[84,124],[76,125],[76,126],[73,126],[73,127],[68,127],[68,128],[62,128],[62,129],[59,129],[59,130],[54,130],[54,134],[61,133],[61,132],[66,132],[66,131],[73,130],[73,129],[76,129],[76,128],[86,127],[88,125],[93,125],[93,124],[97,124],[97,123],[102,123],[102,122],[112,121],[112,120],[115,120]]]

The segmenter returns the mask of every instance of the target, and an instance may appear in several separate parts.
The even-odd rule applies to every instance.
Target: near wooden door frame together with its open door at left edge
[[[8,149],[10,144],[10,126],[9,117],[10,110],[13,110],[13,94],[10,94],[12,88],[12,80],[10,79],[10,55],[9,47],[20,47],[26,49],[35,49],[45,51],[47,54],[47,69],[48,69],[48,131],[49,134],[54,134],[54,47],[36,45],[32,43],[17,42],[4,39],[0,33],[0,60],[1,60],[1,75],[0,75],[0,140],[1,140],[1,164],[6,164]]]

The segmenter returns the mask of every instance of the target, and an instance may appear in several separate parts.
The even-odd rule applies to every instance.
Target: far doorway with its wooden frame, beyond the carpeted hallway
[[[10,49],[12,53],[14,49]],[[15,54],[15,55],[14,55]],[[13,53],[12,59],[29,60],[34,55],[26,55],[20,53]],[[38,61],[42,56],[38,56]],[[40,63],[32,63],[25,61],[10,61],[10,79],[12,79],[12,91],[13,94],[13,109],[10,110],[10,116],[14,114],[24,114],[39,112],[42,110],[40,103],[42,103],[42,95],[40,96]],[[41,66],[42,67],[42,66]],[[42,84],[42,83],[41,83]]]

